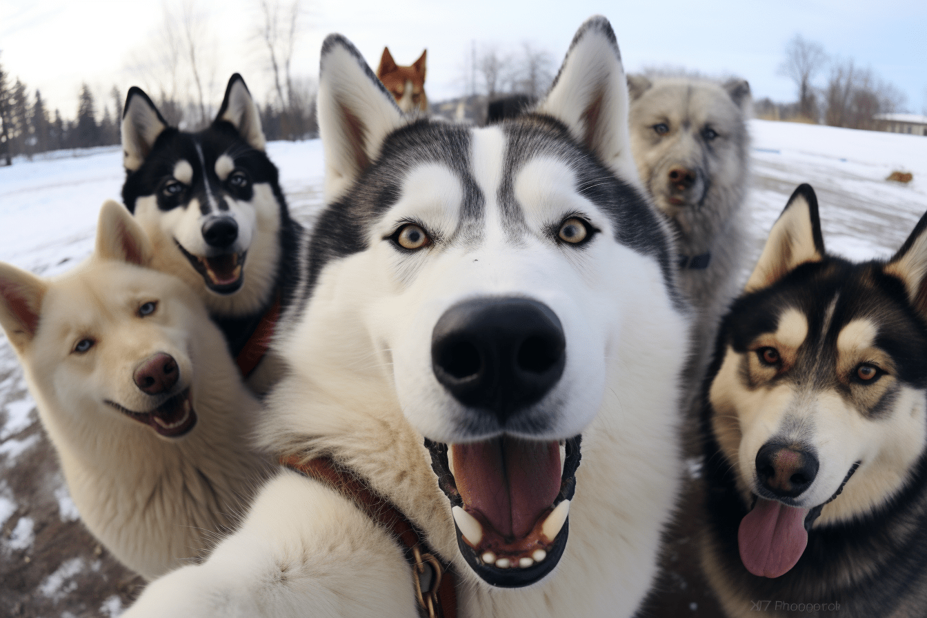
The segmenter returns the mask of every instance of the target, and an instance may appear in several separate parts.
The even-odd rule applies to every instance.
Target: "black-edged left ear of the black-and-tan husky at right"
[[[795,189],[779,220],[772,226],[763,253],[747,280],[744,292],[756,292],[774,284],[799,264],[824,258],[820,233],[818,197],[810,184]]]

